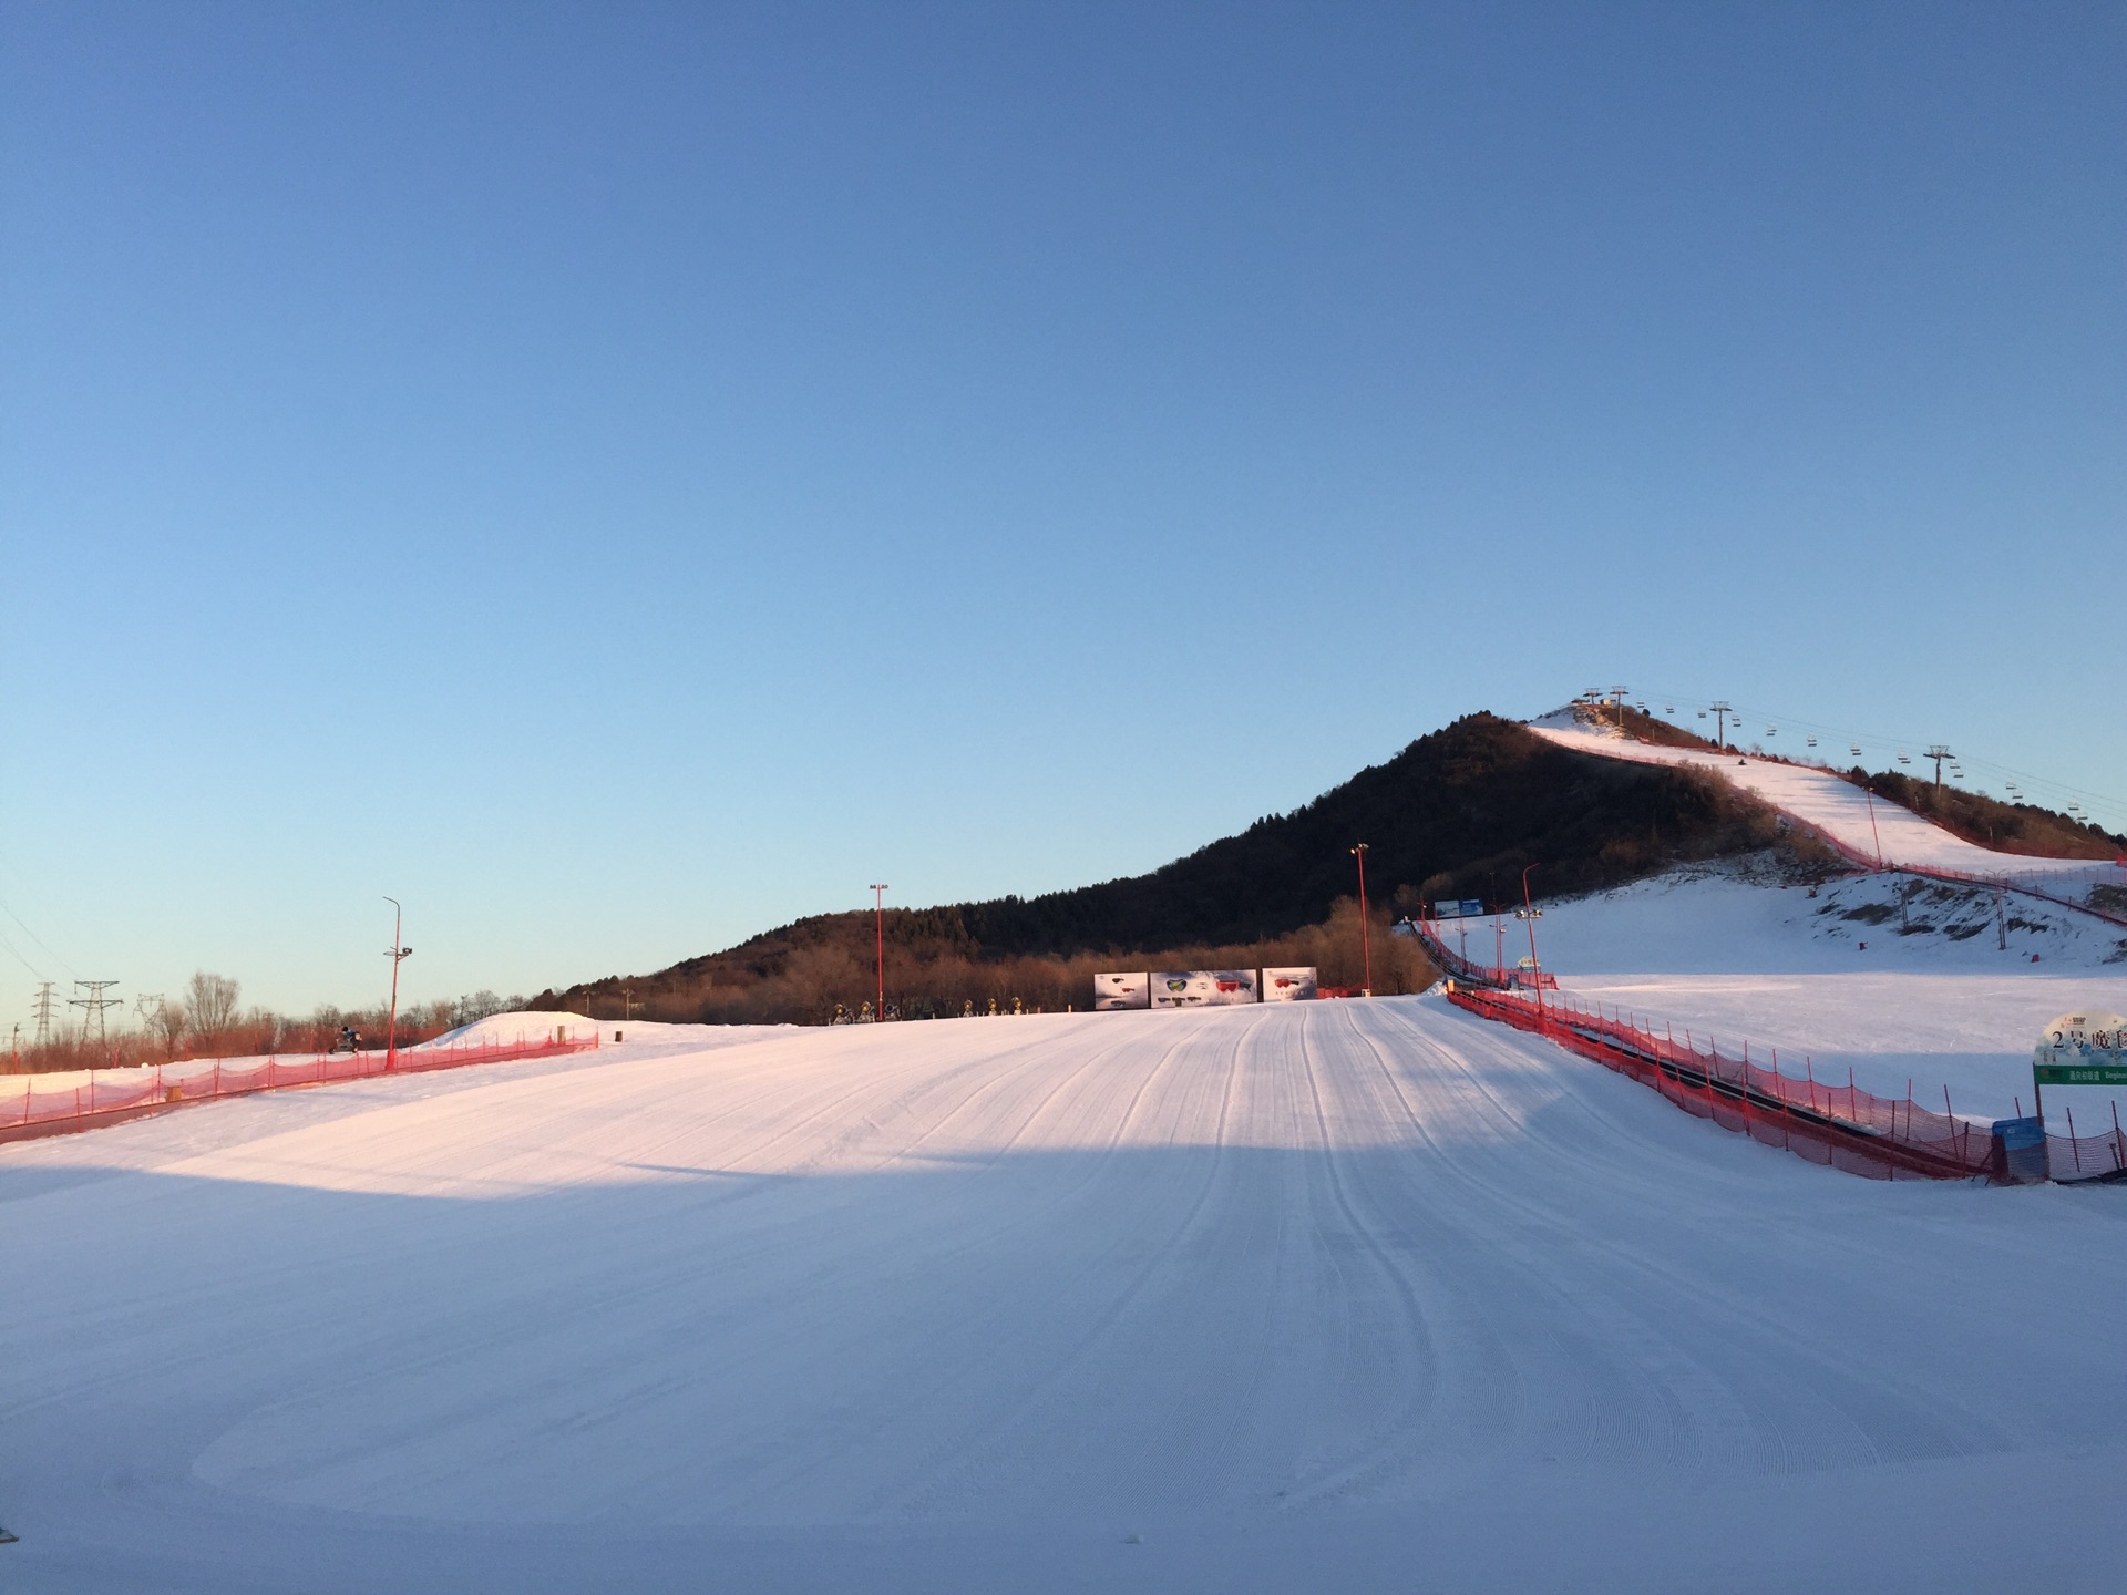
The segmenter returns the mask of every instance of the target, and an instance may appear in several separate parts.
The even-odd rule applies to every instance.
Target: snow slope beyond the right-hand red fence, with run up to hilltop
[[[1753,866],[1678,870],[1580,902],[1546,904],[1544,966],[1574,993],[1787,1061],[1829,1078],[1970,1116],[2031,1110],[2031,1046],[2055,1014],[2127,1004],[2127,931],[2029,895],[1899,874],[1953,870],[2082,902],[2127,870],[2089,859],[1993,853],[1897,804],[1872,804],[1827,770],[1661,749],[1576,721],[1531,727],[1608,759],[1695,766],[1734,780],[1889,874],[1814,889]],[[1489,951],[1489,944],[1487,944]],[[1521,948],[1517,948],[1521,951]],[[2118,1099],[2116,1099],[2118,1095]],[[2127,1093],[2078,1089],[2046,1102],[2084,1134],[2127,1119]]]

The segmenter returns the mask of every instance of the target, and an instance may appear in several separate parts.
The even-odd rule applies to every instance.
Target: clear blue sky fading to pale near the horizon
[[[2127,9],[0,9],[0,1036],[1161,863],[1589,685],[2127,827]],[[1887,744],[1885,744],[1887,746]]]

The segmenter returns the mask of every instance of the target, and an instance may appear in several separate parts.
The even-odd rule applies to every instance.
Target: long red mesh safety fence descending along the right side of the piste
[[[1504,991],[1463,989],[1451,983],[1448,1002],[1546,1036],[1580,1057],[1653,1087],[1685,1112],[1710,1119],[1723,1129],[1765,1146],[1785,1146],[1810,1163],[1859,1174],[1870,1180],[1970,1180],[2010,1182],[2008,1157],[1993,1127],[1923,1108],[1910,1095],[1878,1097],[1855,1085],[1819,1080],[1804,1065],[1802,1076],[1770,1065],[1727,1057],[1708,1038],[1704,1046],[1685,1031],[1676,1040],[1668,1025],[1655,1029],[1636,1014],[1604,1014],[1572,995],[1553,997],[1542,1008]],[[2106,1136],[2046,1136],[2046,1163],[2055,1180],[2127,1178],[2127,1136],[2118,1125]]]

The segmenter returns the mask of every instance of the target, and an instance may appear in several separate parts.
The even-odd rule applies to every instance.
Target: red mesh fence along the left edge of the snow
[[[598,1036],[536,1042],[445,1042],[387,1053],[317,1053],[313,1057],[187,1059],[140,1070],[87,1070],[64,1085],[49,1074],[23,1074],[21,1093],[0,1087],[0,1140],[66,1136],[187,1102],[249,1097],[298,1085],[374,1080],[383,1074],[428,1074],[472,1063],[587,1053]],[[389,1068],[387,1068],[389,1059]],[[38,1087],[43,1080],[43,1089]]]

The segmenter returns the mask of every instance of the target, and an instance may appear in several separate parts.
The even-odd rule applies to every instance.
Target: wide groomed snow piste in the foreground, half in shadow
[[[0,1586],[2118,1589],[2127,1191],[1434,997],[717,1038],[0,1146]]]

